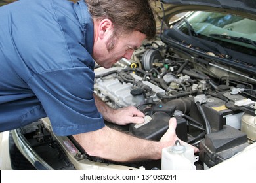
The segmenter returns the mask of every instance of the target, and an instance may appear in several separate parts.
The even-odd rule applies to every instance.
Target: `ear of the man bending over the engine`
[[[108,18],[100,20],[98,23],[98,37],[100,37],[100,39],[104,39],[104,37],[112,35],[113,28],[112,21]]]

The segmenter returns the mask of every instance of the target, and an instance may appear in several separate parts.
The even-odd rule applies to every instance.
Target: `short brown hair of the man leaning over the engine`
[[[110,19],[116,33],[139,31],[147,39],[152,39],[156,34],[156,20],[148,0],[85,1],[93,18]]]

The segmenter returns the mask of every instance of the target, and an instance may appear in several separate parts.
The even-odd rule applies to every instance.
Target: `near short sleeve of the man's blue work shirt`
[[[93,79],[94,73],[88,67],[74,67],[40,73],[28,81],[56,135],[74,135],[104,127],[93,97]]]

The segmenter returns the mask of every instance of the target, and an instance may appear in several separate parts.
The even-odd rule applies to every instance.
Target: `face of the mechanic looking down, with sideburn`
[[[107,29],[104,37],[94,45],[93,58],[98,65],[110,68],[121,58],[131,59],[134,50],[140,47],[144,39],[146,35],[139,31],[117,37],[113,30]]]

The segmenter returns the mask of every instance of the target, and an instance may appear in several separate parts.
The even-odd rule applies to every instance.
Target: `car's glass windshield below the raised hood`
[[[255,20],[218,12],[196,11],[183,18],[175,27],[186,35],[216,42],[239,52],[255,54]]]

